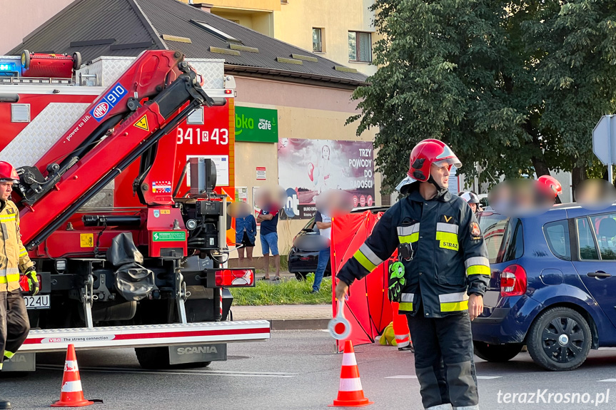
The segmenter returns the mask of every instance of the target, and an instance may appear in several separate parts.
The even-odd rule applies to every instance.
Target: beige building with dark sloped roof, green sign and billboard
[[[358,206],[380,205],[375,130],[358,137],[356,125],[345,125],[358,113],[351,95],[367,77],[327,53],[311,53],[212,11],[213,6],[176,0],[77,0],[24,34],[9,54],[79,51],[87,63],[172,49],[186,58],[223,59],[225,73],[236,81],[235,127],[228,130],[235,168],[228,169],[221,186],[235,188],[227,192],[232,200],[251,205],[259,188],[283,186],[289,200],[278,225],[282,255],[313,216],[314,197],[322,190],[349,190]],[[272,11],[270,18],[275,17]],[[258,256],[260,241],[256,245]]]

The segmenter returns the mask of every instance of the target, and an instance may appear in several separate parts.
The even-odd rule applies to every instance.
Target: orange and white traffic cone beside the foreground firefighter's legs
[[[340,371],[340,388],[338,389],[338,399],[329,406],[335,407],[361,407],[373,404],[363,396],[361,381],[359,379],[359,369],[355,361],[355,351],[353,343],[347,340],[344,344],[342,356],[342,370]]]

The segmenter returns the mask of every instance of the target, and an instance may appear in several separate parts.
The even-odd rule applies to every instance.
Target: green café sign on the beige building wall
[[[278,143],[278,111],[236,106],[236,141]]]

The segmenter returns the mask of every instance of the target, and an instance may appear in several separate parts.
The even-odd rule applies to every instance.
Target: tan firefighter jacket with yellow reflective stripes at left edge
[[[19,289],[19,271],[34,263],[21,243],[19,210],[11,201],[0,201],[0,292]]]

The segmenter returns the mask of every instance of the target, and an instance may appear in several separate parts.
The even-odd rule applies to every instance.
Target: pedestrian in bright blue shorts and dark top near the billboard
[[[266,268],[264,280],[270,279],[270,252],[276,265],[276,276],[273,280],[281,280],[281,255],[278,253],[278,215],[279,205],[271,198],[269,193],[264,194],[263,203],[266,205],[257,216],[261,224],[261,248],[263,249],[263,264]]]

